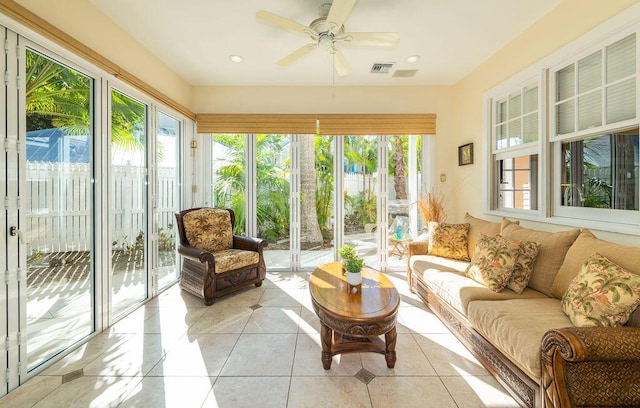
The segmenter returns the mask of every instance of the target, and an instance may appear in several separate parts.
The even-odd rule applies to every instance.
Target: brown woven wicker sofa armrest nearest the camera
[[[571,327],[542,337],[545,407],[640,406],[640,327]]]

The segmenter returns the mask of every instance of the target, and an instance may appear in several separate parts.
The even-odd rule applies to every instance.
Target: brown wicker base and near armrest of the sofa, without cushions
[[[414,255],[410,246],[409,256]],[[523,407],[640,406],[640,327],[565,328],[541,340],[541,384],[473,329],[465,316],[408,270],[408,283]]]

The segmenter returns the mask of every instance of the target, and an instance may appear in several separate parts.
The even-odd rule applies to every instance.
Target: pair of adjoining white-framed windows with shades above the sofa
[[[549,220],[637,233],[636,31],[579,39],[488,93],[490,211],[543,219],[550,203]]]

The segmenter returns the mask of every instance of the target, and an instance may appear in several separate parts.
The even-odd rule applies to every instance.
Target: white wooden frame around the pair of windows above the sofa
[[[617,123],[604,122],[606,120],[606,105],[602,105],[602,126],[575,131],[570,134],[556,136],[556,104],[555,104],[555,73],[580,59],[591,55],[597,50],[604,50],[608,45],[615,43],[624,37],[636,33],[636,118],[623,120]],[[603,71],[605,67],[603,67]],[[513,151],[518,151],[521,146],[511,149],[495,151],[495,122],[493,111],[495,103],[504,98],[509,91],[516,90],[524,85],[527,80],[539,75],[541,87],[540,131],[539,138],[539,188],[538,211],[523,211],[497,208],[496,160],[499,158],[514,157]],[[604,75],[604,74],[603,74]],[[605,21],[592,30],[584,33],[575,41],[563,46],[552,54],[540,59],[522,72],[505,80],[483,95],[483,144],[485,157],[489,165],[485,169],[485,213],[497,216],[517,217],[536,222],[561,224],[564,226],[576,226],[591,228],[608,232],[640,235],[640,211],[607,210],[582,207],[560,207],[560,177],[561,157],[560,148],[562,141],[580,140],[590,136],[614,133],[615,131],[638,127],[640,125],[640,4],[629,7],[627,10]],[[603,83],[603,88],[606,85]],[[606,96],[603,92],[603,102]],[[576,112],[576,115],[578,113]],[[577,129],[577,128],[576,128]],[[574,129],[574,130],[576,130]],[[523,150],[524,152],[524,150]],[[520,154],[517,154],[520,155]],[[640,184],[640,183],[639,183]],[[640,189],[640,185],[638,186]],[[602,215],[603,213],[608,213]]]

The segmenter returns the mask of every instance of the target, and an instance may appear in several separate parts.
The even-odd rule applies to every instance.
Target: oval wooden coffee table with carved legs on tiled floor
[[[385,275],[365,267],[361,291],[350,294],[342,266],[332,262],[313,271],[309,290],[320,319],[325,370],[333,356],[361,351],[384,354],[387,367],[395,366],[400,295]],[[379,337],[383,334],[384,341]]]

